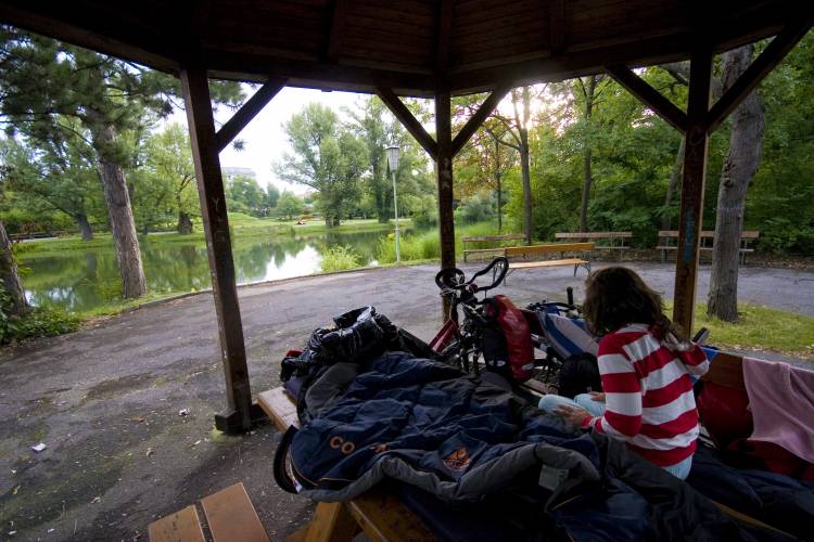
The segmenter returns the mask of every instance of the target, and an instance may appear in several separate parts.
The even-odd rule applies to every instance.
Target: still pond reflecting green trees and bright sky
[[[377,264],[379,238],[387,231],[238,238],[232,246],[238,284],[305,276],[321,271],[322,254],[335,245],[352,246],[359,264]],[[157,235],[141,243],[148,292],[196,292],[211,287],[206,245],[162,243]],[[87,311],[114,301],[120,292],[113,248],[69,250],[21,258],[29,302]]]

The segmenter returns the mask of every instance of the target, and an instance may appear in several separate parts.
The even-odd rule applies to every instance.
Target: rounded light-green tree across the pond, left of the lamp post
[[[364,144],[333,111],[318,103],[293,115],[284,130],[294,154],[285,154],[278,175],[316,190],[326,225],[339,225],[358,196],[358,180],[366,169]]]

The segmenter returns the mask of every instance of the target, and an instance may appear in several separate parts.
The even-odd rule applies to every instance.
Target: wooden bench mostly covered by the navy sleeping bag
[[[283,388],[262,392],[257,402],[281,431],[298,427],[296,406]],[[372,489],[346,503],[319,503],[310,525],[292,540],[349,541],[364,531],[374,541],[420,542],[435,537],[395,495]]]

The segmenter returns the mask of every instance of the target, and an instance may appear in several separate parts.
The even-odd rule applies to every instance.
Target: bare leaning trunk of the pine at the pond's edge
[[[147,285],[125,172],[119,164],[109,159],[115,140],[116,131],[112,125],[102,126],[94,131],[93,146],[99,153],[104,201],[111,219],[116,261],[122,273],[122,297],[130,299],[143,296]]]

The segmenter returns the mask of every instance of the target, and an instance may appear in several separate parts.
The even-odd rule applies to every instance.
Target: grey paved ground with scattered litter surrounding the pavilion
[[[672,264],[634,264],[672,296]],[[467,269],[472,269],[468,267]],[[436,268],[418,266],[289,280],[240,289],[255,392],[279,384],[289,348],[332,315],[374,305],[429,339],[441,324]],[[518,305],[581,299],[585,272],[519,271],[496,291]],[[702,269],[699,299],[707,292]],[[814,273],[747,268],[741,299],[814,314]],[[0,540],[147,540],[154,519],[243,481],[274,539],[307,522],[305,499],[279,490],[270,425],[227,437],[211,294],[161,302],[0,356]],[[181,409],[189,414],[179,415]],[[30,447],[43,442],[36,453]]]

